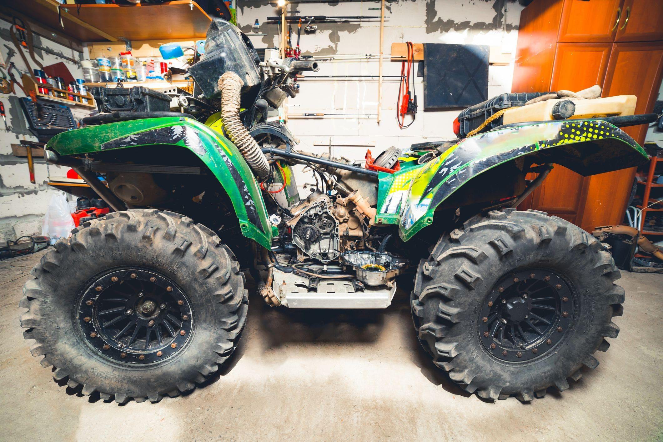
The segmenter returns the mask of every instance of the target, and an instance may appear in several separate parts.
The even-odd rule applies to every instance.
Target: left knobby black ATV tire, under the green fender
[[[20,305],[28,309],[21,316],[21,327],[27,329],[24,337],[36,341],[30,352],[44,356],[42,366],[56,368],[56,380],[67,380],[72,388],[81,386],[85,395],[99,392],[103,400],[114,396],[119,403],[131,398],[156,402],[164,395],[192,390],[234,351],[249,304],[244,275],[233,252],[203,225],[177,213],[132,209],[84,223],[54,249],[32,269],[34,279],[25,284]],[[101,303],[95,297],[105,293],[101,285],[113,284],[110,275],[130,275],[127,278],[138,281],[143,274],[144,281],[128,279],[128,285],[118,290],[164,282],[151,293],[160,290],[171,296],[172,305],[162,304],[162,313],[172,313],[168,320],[172,344],[159,337],[154,345],[164,348],[158,354],[123,348],[111,335],[103,335],[108,341],[101,341],[105,319],[82,318]],[[123,283],[112,278],[115,284]],[[97,281],[102,283],[95,287]],[[184,313],[174,318],[179,309]],[[154,341],[154,335],[146,335],[147,343]]]

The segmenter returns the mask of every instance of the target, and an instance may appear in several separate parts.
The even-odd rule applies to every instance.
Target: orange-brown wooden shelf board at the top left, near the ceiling
[[[29,2],[28,2],[29,3]],[[205,38],[211,18],[198,4],[175,0],[155,5],[60,5],[80,21],[116,38]]]

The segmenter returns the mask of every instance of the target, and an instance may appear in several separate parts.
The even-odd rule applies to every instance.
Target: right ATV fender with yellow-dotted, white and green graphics
[[[434,160],[379,176],[378,213],[383,224],[398,224],[407,241],[430,225],[453,192],[479,174],[526,155],[560,164],[583,176],[643,164],[647,154],[621,129],[600,119],[540,121],[459,140]],[[511,195],[505,195],[511,196]]]

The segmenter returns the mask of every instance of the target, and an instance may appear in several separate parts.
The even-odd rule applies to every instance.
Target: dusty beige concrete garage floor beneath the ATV
[[[253,295],[230,370],[184,397],[118,406],[77,397],[30,356],[18,304],[38,259],[0,262],[2,440],[663,437],[662,274],[624,272],[621,333],[599,367],[531,404],[457,388],[420,349],[401,291],[386,311],[288,311]]]

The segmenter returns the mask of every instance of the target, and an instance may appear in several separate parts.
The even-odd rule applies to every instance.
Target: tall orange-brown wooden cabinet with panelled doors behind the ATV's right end
[[[626,8],[629,8],[628,21]],[[634,17],[640,17],[642,11],[650,13],[636,22]],[[663,1],[535,0],[521,15],[512,91],[577,91],[598,84],[604,97],[636,95],[636,113],[651,112],[663,74],[663,41],[619,39],[663,40],[663,25],[660,25],[663,18],[657,19],[658,23],[650,18],[658,17],[662,11]],[[521,35],[532,28],[532,16],[538,18],[536,42]],[[548,20],[540,20],[546,16]],[[583,26],[583,21],[592,23]],[[557,27],[558,32],[546,26]],[[532,51],[532,46],[540,50]],[[553,49],[546,50],[548,47]],[[640,144],[644,142],[646,126],[629,127],[625,131]],[[635,168],[631,168],[583,177],[556,166],[520,207],[546,211],[587,231],[598,225],[621,223],[634,174]]]

